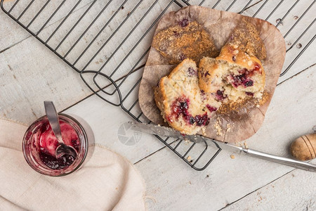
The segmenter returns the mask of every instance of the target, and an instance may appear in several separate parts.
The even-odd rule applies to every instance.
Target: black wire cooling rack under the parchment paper
[[[284,66],[283,76],[315,39],[314,3],[307,0],[1,0],[1,9],[79,72],[94,94],[113,106],[120,106],[134,120],[149,122],[138,105],[138,86],[154,29],[164,13],[195,4],[262,18],[276,27],[294,18],[282,32],[284,38],[291,36],[295,40],[287,43],[290,62]],[[157,139],[195,170],[204,170],[220,152],[208,148],[206,143],[159,136]]]

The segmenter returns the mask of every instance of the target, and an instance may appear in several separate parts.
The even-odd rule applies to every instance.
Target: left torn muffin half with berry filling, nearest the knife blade
[[[197,65],[188,58],[160,79],[154,89],[154,100],[164,120],[183,134],[199,132],[220,106],[210,94],[200,91]]]

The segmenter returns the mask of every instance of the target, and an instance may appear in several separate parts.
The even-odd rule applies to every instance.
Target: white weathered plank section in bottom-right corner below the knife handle
[[[315,173],[294,170],[224,210],[316,210],[315,186]]]

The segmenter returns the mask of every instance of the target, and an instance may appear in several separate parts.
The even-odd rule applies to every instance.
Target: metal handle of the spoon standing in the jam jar
[[[49,124],[51,124],[51,129],[53,129],[53,132],[57,138],[57,141],[59,143],[64,143],[62,141],[62,135],[60,132],[60,125],[59,125],[59,118],[57,111],[55,109],[54,103],[52,101],[44,101],[45,106],[45,112],[46,116],[48,118]]]

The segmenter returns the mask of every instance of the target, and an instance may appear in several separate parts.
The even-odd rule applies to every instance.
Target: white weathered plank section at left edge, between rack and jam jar
[[[78,73],[35,38],[0,54],[0,75],[0,116],[25,124],[44,115],[45,100],[61,110],[91,94]]]

